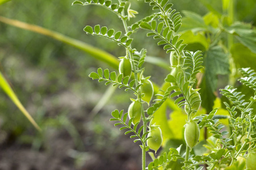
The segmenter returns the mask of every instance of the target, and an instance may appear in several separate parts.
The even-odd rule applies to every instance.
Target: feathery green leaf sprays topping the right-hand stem
[[[179,40],[179,35],[176,35],[176,32],[179,31],[181,26],[180,13],[176,12],[176,10],[172,10],[172,3],[167,3],[168,1],[165,0],[146,0],[145,2],[150,3],[153,10],[160,10],[160,13],[153,17],[157,17],[159,20],[163,20],[163,22],[157,23],[153,17],[148,22],[148,18],[146,18],[139,23],[139,27],[151,31],[150,33],[147,33],[147,36],[153,36],[154,39],[160,39],[158,45],[164,45],[164,50],[167,50],[167,53],[174,50],[177,54],[182,52],[186,44],[182,44],[183,40]],[[136,27],[134,26],[134,29],[135,28]]]

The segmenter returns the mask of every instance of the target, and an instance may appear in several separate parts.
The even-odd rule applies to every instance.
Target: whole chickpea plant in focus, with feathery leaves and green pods
[[[209,114],[195,116],[201,105],[199,89],[195,88],[196,74],[203,68],[201,66],[203,57],[200,51],[185,50],[186,44],[183,44],[178,32],[181,26],[181,15],[172,9],[172,3],[168,3],[168,0],[145,0],[145,2],[149,3],[152,10],[156,12],[131,25],[127,25],[127,20],[138,12],[131,10],[128,1],[119,0],[118,3],[112,3],[110,0],[73,2],[73,5],[96,5],[114,12],[125,29],[123,33],[101,25],[94,27],[87,25],[84,28],[84,31],[90,35],[105,37],[125,48],[126,56],[119,57],[119,73],[115,71],[110,73],[109,69],[99,68],[97,73],[93,72],[89,75],[90,78],[104,82],[105,85],[112,84],[134,94],[127,109],[128,112],[115,110],[112,112],[113,118],[110,121],[117,121],[114,126],[121,126],[120,130],[125,130],[125,134],[131,134],[130,138],[134,138],[134,142],[140,142],[143,170],[171,169],[169,165],[178,160],[181,162],[182,169],[245,169],[245,163],[240,165],[237,159],[246,157],[247,168],[254,170],[256,168],[256,151],[254,149],[256,126],[255,114],[253,114],[251,105],[256,101],[256,96],[251,97],[250,103],[248,103],[243,100],[244,95],[241,92],[228,86],[221,90],[221,93],[231,101],[230,104],[225,103],[230,117],[215,115],[217,109],[213,109]],[[126,8],[127,11],[125,11]],[[166,53],[170,53],[172,71],[163,82],[168,84],[168,88],[166,91],[156,94],[155,100],[153,100],[154,88],[150,76],[143,74],[143,63],[147,50],[137,50],[132,46],[131,35],[135,34],[138,29],[146,29],[147,36],[159,40],[158,45],[162,45]],[[243,78],[240,79],[240,82],[256,90],[254,71],[247,68],[241,69],[241,73]],[[187,124],[184,130],[186,149],[183,153],[181,146],[170,148],[168,152],[164,152],[146,165],[146,152],[153,150],[156,153],[162,146],[161,127],[154,124],[152,120],[156,111],[168,97],[173,98],[174,103],[178,107],[184,108],[187,113]],[[147,105],[143,103],[147,103]],[[229,118],[230,132],[224,130],[225,126],[219,122],[220,118]],[[208,151],[203,155],[196,155],[193,148],[199,141],[200,129],[204,127],[207,127],[209,133],[213,135],[207,139],[208,145],[205,145]]]

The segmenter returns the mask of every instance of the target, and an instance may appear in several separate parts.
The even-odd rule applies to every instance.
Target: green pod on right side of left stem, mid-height
[[[148,79],[142,80],[142,83],[143,85],[141,86],[141,92],[144,94],[144,96],[141,99],[149,104],[154,94],[153,84]]]

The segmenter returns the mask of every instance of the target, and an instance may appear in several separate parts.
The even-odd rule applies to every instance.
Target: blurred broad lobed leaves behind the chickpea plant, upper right
[[[225,2],[223,11],[212,6],[212,2],[201,2],[210,12],[200,16],[192,11],[183,11],[185,17],[180,31],[184,32],[184,36],[181,36],[183,39],[186,35],[191,37],[184,41],[189,50],[197,50],[195,47],[202,46],[205,52],[205,75],[200,88],[202,106],[210,112],[216,99],[217,76],[228,75],[230,71],[232,76],[237,76],[237,67],[254,68],[251,63],[255,58],[255,29],[251,24],[233,22],[233,1],[222,1]],[[201,41],[197,40],[199,37]],[[232,53],[232,56],[228,57],[228,53]],[[246,59],[241,56],[246,56]],[[231,81],[234,83],[233,77]]]

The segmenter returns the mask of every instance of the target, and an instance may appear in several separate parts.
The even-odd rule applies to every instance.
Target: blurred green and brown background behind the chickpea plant
[[[13,0],[0,6],[0,15],[40,25],[116,57],[125,55],[122,46],[83,31],[85,25],[96,24],[120,30],[117,16],[97,6],[71,6],[72,2]],[[171,2],[177,11],[222,11],[220,0]],[[131,3],[140,15],[130,23],[152,12],[143,1]],[[255,0],[236,1],[235,20],[255,26],[255,9]],[[133,46],[168,63],[168,54],[145,35],[139,31]],[[138,146],[109,122],[114,109],[128,107],[132,94],[117,90],[99,113],[91,112],[108,89],[88,77],[98,67],[109,66],[63,42],[0,23],[0,71],[43,129],[36,131],[0,90],[0,169],[140,169]],[[150,63],[145,67],[145,75],[152,75],[160,86],[168,71]]]

